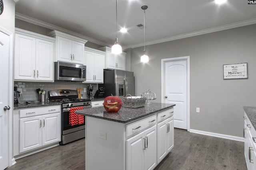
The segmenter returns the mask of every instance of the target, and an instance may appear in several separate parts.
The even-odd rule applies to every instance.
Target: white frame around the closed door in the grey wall
[[[165,70],[165,63],[169,62],[169,61],[187,61],[187,107],[188,107],[188,114],[187,114],[187,127],[188,127],[188,131],[190,131],[190,57],[189,56],[184,56],[184,57],[174,57],[174,58],[168,58],[168,59],[161,59],[161,102],[164,103],[164,81],[165,81],[165,75],[164,75],[164,70]],[[175,111],[175,110],[174,110]]]

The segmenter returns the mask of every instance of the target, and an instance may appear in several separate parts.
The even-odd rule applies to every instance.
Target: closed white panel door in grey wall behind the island
[[[165,62],[164,68],[164,102],[176,104],[174,107],[174,127],[188,129],[187,61]]]

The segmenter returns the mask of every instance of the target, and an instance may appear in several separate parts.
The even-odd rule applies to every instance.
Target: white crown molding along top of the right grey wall
[[[206,34],[206,33],[212,33],[212,32],[216,32],[216,31],[222,31],[222,30],[226,30],[226,29],[242,27],[242,26],[251,25],[251,24],[255,24],[255,23],[256,23],[256,18],[251,19],[251,20],[245,20],[245,21],[240,21],[240,22],[236,22],[236,23],[231,23],[231,24],[227,24],[227,25],[222,25],[222,26],[219,26],[219,27],[203,29],[203,30],[200,30],[200,31],[194,31],[194,32],[191,32],[191,33],[185,33],[185,34],[181,34],[181,35],[167,37],[167,38],[163,38],[163,39],[157,39],[157,40],[154,40],[154,41],[147,41],[145,43],[145,45],[163,43],[163,42],[167,42],[167,41],[173,41],[173,40],[177,40],[177,39],[193,37],[193,36],[196,36],[196,35],[202,35],[202,34]],[[127,48],[136,48],[136,47],[142,47],[142,46],[144,46],[144,43],[128,45],[128,46],[124,46],[123,48],[127,49]]]

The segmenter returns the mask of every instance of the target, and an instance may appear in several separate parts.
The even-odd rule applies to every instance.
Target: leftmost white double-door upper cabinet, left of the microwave
[[[15,28],[14,80],[52,82],[55,39]]]

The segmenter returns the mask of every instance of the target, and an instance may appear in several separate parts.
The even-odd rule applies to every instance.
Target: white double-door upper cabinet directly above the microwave
[[[84,44],[87,42],[86,40],[56,30],[48,33],[48,36],[56,38],[56,57],[54,61],[84,63]]]

